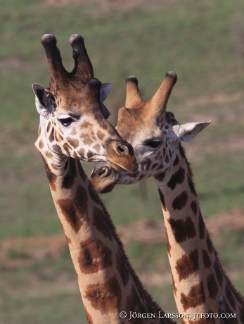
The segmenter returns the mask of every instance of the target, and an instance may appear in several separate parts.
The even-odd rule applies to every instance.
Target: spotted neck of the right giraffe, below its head
[[[179,313],[232,313],[230,323],[243,323],[244,302],[221,268],[212,246],[184,150],[172,156],[170,174],[155,177],[167,231],[167,253]],[[223,306],[224,304],[224,306]],[[184,323],[187,320],[184,319]],[[188,323],[225,323],[218,318]]]

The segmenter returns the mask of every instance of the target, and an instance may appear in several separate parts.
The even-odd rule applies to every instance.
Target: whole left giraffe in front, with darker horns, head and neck
[[[41,44],[49,63],[50,87],[32,86],[40,115],[35,145],[44,161],[88,323],[173,324],[143,288],[79,161],[108,158],[117,170],[137,169],[131,145],[105,119],[108,111],[101,99],[110,86],[94,78],[80,35],[70,37],[72,73],[63,67],[53,35],[44,35]],[[157,317],[138,318],[145,313]]]

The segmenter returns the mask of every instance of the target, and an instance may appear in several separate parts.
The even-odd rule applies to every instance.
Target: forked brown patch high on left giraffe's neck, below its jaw
[[[63,212],[63,216],[65,216],[65,219],[72,227],[72,230],[75,230],[76,233],[79,232],[83,221],[89,218],[86,189],[82,185],[79,185],[74,199],[59,199],[57,203]]]

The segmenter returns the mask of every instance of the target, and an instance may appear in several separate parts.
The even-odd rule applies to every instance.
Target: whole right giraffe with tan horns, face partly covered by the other
[[[158,185],[167,231],[167,254],[172,270],[174,299],[182,323],[244,323],[244,301],[224,273],[200,212],[193,174],[181,141],[191,141],[207,123],[181,125],[166,111],[177,76],[168,72],[149,101],[143,101],[136,77],[127,79],[125,106],[119,109],[117,131],[134,147],[139,165],[134,173],[121,173],[102,162],[91,173],[98,192],[116,184],[131,184],[153,176]],[[196,314],[207,313],[208,318]],[[236,318],[211,318],[211,314]]]

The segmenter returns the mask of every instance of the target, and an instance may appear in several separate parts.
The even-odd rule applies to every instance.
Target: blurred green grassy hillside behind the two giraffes
[[[49,85],[41,36],[56,36],[67,70],[73,68],[70,35],[84,37],[95,76],[113,82],[105,101],[113,125],[129,75],[138,78],[146,100],[174,70],[179,80],[168,110],[181,123],[212,120],[185,145],[203,216],[234,217],[233,210],[244,206],[244,2],[0,0],[0,5],[0,323],[86,323],[70,256],[55,245],[63,232],[34,147],[39,116],[31,85]],[[92,166],[84,168],[89,174]],[[102,198],[119,227],[162,220],[151,180],[116,187]],[[243,233],[240,225],[212,237],[242,294]],[[59,252],[40,256],[39,245],[27,240],[40,237],[53,238],[49,250],[54,244]],[[32,245],[36,252],[29,251]],[[165,244],[134,242],[132,235],[126,249],[160,306],[176,311]],[[165,282],[150,282],[152,272],[164,273]]]

